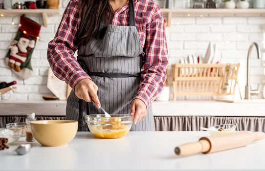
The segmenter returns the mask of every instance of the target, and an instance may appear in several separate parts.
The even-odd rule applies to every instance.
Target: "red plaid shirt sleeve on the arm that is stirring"
[[[75,85],[90,77],[73,56],[77,50],[77,29],[80,22],[77,0],[70,0],[55,37],[48,44],[47,59],[53,73],[74,90]]]

